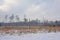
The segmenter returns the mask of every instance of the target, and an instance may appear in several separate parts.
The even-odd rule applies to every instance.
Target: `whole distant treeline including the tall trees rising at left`
[[[9,19],[9,22],[8,22]],[[14,22],[14,19],[16,22]],[[47,21],[44,20],[40,22],[38,18],[36,20],[28,20],[26,15],[24,15],[24,21],[20,21],[20,17],[18,15],[12,14],[11,16],[5,15],[5,21],[1,22],[0,26],[60,26],[60,21]]]

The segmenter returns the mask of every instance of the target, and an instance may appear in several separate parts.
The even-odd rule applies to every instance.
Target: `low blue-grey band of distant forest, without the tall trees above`
[[[60,26],[60,21],[38,22],[36,20],[33,20],[29,22],[0,23],[0,26]]]

